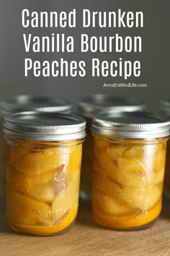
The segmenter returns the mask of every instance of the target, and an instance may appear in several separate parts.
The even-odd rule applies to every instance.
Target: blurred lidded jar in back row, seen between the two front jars
[[[86,141],[84,142],[81,166],[80,197],[91,200],[92,187],[92,153],[93,137],[91,135],[92,116],[102,110],[106,111],[141,111],[145,106],[133,98],[120,98],[112,95],[95,94],[82,98],[78,103],[78,113],[86,119]]]

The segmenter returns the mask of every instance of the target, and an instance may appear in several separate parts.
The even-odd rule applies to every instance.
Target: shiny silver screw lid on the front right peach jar
[[[169,136],[169,118],[150,112],[102,111],[93,117],[94,133],[121,138],[150,139]]]

